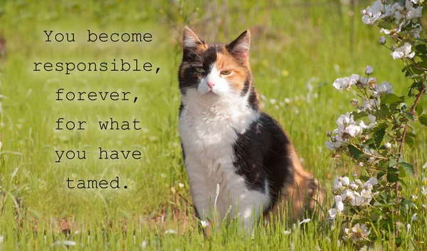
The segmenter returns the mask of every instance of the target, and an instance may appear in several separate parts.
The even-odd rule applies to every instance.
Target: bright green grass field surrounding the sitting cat
[[[410,84],[401,73],[403,64],[392,60],[378,45],[377,28],[360,21],[355,6],[354,36],[350,6],[331,1],[300,1],[272,6],[271,1],[228,2],[220,7],[183,1],[4,1],[0,3],[0,35],[6,39],[7,58],[0,63],[2,153],[0,235],[3,250],[66,250],[60,223],[69,224],[70,250],[348,250],[341,241],[341,224],[334,229],[312,220],[305,228],[288,223],[259,226],[248,236],[231,224],[215,231],[209,240],[198,229],[191,207],[189,184],[181,157],[177,117],[177,68],[181,60],[179,38],[184,24],[214,41],[231,41],[251,28],[251,65],[255,86],[266,97],[264,110],[278,119],[290,134],[303,164],[330,191],[336,176],[355,169],[334,161],[325,147],[325,132],[335,119],[352,109],[351,95],[332,87],[335,78],[364,73],[371,65],[380,82],[394,85],[404,95]],[[310,3],[303,1],[303,3]],[[216,3],[221,6],[221,2]],[[265,8],[265,6],[270,6]],[[228,17],[228,21],[225,17]],[[216,23],[216,24],[215,24]],[[218,28],[218,23],[221,26]],[[75,43],[45,43],[43,30],[74,32]],[[87,43],[87,29],[100,32],[150,32],[153,43]],[[215,35],[217,34],[217,35]],[[211,38],[214,36],[214,38]],[[212,41],[211,41],[212,42]],[[35,73],[33,62],[106,62],[113,58],[149,61],[159,73]],[[307,82],[314,87],[307,99]],[[58,102],[56,90],[130,91],[133,102]],[[314,97],[316,95],[316,97]],[[285,98],[292,102],[285,103]],[[271,99],[277,102],[273,104]],[[283,104],[282,104],[283,102]],[[421,106],[426,107],[424,99]],[[85,120],[87,129],[56,132],[56,119]],[[100,131],[98,119],[141,121],[140,131]],[[416,145],[405,149],[416,166],[406,178],[406,195],[417,194],[418,220],[403,234],[401,250],[425,250],[426,198],[418,190],[426,170],[426,129],[417,127]],[[98,147],[139,150],[139,160],[100,160]],[[56,163],[56,150],[87,151],[87,159]],[[357,171],[357,170],[356,170]],[[127,189],[70,190],[65,179],[120,177]],[[179,187],[184,183],[184,188]],[[424,184],[426,186],[426,184]],[[327,202],[329,208],[332,200]],[[411,215],[408,215],[410,218]],[[176,234],[165,234],[166,230]],[[285,235],[285,230],[291,230]],[[90,235],[88,231],[90,230]],[[77,232],[76,232],[77,231]],[[406,229],[400,229],[406,233]],[[390,240],[375,244],[394,250]],[[0,244],[1,250],[1,244]]]

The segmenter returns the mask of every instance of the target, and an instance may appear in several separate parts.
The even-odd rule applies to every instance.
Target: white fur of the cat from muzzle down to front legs
[[[179,132],[191,193],[202,219],[212,219],[216,212],[219,225],[231,205],[228,216],[238,215],[251,228],[253,220],[270,202],[268,188],[265,193],[248,190],[233,166],[233,144],[238,137],[236,132],[246,132],[259,115],[248,107],[248,95],[241,97],[215,66],[211,67],[211,73],[201,80],[199,87],[187,89],[182,96],[184,110],[179,117]],[[209,93],[208,81],[215,82],[214,94]],[[215,209],[217,184],[220,189]]]

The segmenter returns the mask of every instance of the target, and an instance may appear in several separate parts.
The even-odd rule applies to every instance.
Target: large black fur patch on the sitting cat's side
[[[290,141],[278,122],[261,113],[249,129],[238,135],[233,146],[236,173],[243,176],[251,190],[265,192],[265,178],[271,206],[278,201],[280,190],[292,182]]]

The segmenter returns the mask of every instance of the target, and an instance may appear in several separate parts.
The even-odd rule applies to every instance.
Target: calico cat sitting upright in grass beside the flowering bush
[[[185,27],[179,67],[179,132],[196,214],[216,224],[238,216],[248,228],[287,204],[291,220],[300,219],[322,199],[283,129],[260,111],[250,44],[249,31],[205,43]]]

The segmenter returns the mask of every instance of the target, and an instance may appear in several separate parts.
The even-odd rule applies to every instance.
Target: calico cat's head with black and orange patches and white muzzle
[[[179,88],[184,96],[211,102],[245,97],[251,87],[251,33],[231,43],[205,43],[188,27],[182,34],[183,58]]]

